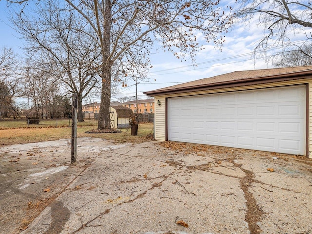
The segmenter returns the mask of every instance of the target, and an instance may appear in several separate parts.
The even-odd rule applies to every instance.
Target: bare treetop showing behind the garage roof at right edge
[[[276,67],[293,67],[312,65],[312,44],[304,44],[295,50],[281,53],[276,58],[274,66]]]

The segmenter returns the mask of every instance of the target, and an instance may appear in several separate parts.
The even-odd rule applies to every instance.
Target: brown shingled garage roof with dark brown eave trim
[[[235,71],[144,92],[148,96],[312,78],[312,66]]]

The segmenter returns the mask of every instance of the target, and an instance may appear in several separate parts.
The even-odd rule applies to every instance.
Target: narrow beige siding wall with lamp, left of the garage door
[[[161,102],[159,107],[157,101]],[[166,140],[166,98],[164,96],[155,96],[155,117],[154,117],[154,131],[155,139],[159,141]]]

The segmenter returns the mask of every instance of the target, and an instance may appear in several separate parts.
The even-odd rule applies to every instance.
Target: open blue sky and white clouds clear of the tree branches
[[[5,1],[0,1],[0,48],[12,47],[16,53],[22,54],[21,47],[23,40],[11,28],[7,20],[8,9]],[[151,65],[153,66],[148,74],[149,80],[139,81],[137,85],[138,97],[146,99],[143,92],[151,91],[163,87],[176,85],[179,83],[209,78],[220,74],[234,71],[254,70],[273,68],[272,61],[265,59],[253,59],[253,50],[258,45],[264,35],[264,29],[257,25],[257,22],[236,23],[234,27],[225,35],[225,43],[222,51],[215,48],[215,45],[204,43],[205,49],[197,53],[195,59],[197,66],[193,66],[192,61],[181,61],[171,53],[161,50],[151,51]],[[303,34],[289,35],[292,41],[300,44],[306,36]],[[156,46],[155,46],[156,47]],[[118,95],[112,96],[111,101],[118,100],[119,97],[135,96],[135,82],[129,82],[127,87],[119,87]],[[91,97],[86,102],[100,102],[100,97]],[[86,104],[86,103],[84,103]]]

